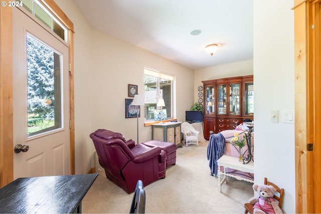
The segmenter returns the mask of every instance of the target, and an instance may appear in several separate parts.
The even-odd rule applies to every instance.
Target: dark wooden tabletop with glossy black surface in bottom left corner
[[[97,175],[18,178],[0,189],[0,213],[81,213]]]

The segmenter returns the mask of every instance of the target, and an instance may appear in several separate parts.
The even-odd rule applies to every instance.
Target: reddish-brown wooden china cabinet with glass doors
[[[235,129],[245,119],[253,120],[253,75],[202,81],[204,84],[204,137]]]

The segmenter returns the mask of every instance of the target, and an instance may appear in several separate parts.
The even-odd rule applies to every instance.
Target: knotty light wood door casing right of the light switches
[[[307,124],[306,116],[302,112],[307,112],[306,103],[306,35],[301,32],[306,31],[305,19],[306,5],[301,4],[294,10],[294,75],[295,75],[295,192],[296,192],[296,213],[310,213],[307,205],[308,188],[307,181],[307,159],[306,151]]]

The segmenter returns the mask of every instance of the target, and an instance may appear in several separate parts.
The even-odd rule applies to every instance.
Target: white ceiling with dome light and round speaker
[[[254,0],[73,1],[92,27],[191,69],[253,59]]]

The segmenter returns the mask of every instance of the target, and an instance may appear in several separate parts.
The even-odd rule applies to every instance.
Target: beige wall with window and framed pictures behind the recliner
[[[176,105],[179,121],[193,105],[192,69],[159,57],[93,29],[72,1],[55,0],[74,23],[75,36],[75,172],[86,173],[94,166],[94,147],[89,134],[98,128],[137,138],[136,118],[125,118],[128,84],[143,93],[143,67],[176,76]],[[139,118],[139,141],[151,139],[151,127]]]

